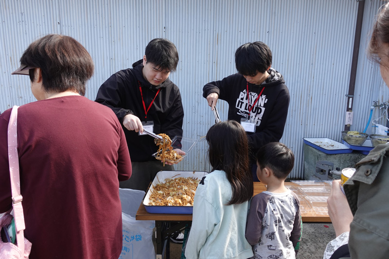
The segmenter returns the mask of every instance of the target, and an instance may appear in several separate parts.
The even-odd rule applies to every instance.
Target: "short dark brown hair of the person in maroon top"
[[[88,51],[70,36],[49,34],[28,46],[20,63],[39,68],[46,92],[75,91],[85,95],[85,84],[93,75],[93,60]],[[35,69],[30,69],[34,81]]]

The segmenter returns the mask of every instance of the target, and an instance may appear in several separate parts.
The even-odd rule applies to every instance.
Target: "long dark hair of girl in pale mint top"
[[[242,125],[236,121],[217,123],[209,129],[206,139],[212,172],[226,172],[232,187],[227,205],[248,201],[254,187],[248,165],[248,139]]]

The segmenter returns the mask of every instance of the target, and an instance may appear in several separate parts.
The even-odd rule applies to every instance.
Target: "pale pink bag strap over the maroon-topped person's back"
[[[18,106],[12,107],[11,116],[8,123],[8,160],[9,173],[11,178],[12,207],[14,208],[14,220],[16,229],[16,239],[18,247],[24,253],[24,214],[20,195],[20,175],[18,156]]]

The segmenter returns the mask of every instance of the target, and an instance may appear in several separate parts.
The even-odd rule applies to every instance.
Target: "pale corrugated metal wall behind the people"
[[[290,177],[303,177],[302,138],[340,141],[351,73],[356,0],[0,0],[0,111],[35,98],[28,77],[10,76],[22,52],[49,33],[70,35],[90,52],[95,74],[86,96],[114,72],[142,58],[155,37],[170,39],[180,61],[171,79],[182,94],[184,135],[199,139],[213,124],[202,86],[235,73],[234,52],[263,41],[273,68],[289,87],[291,101],[281,139],[296,155]],[[387,101],[378,66],[365,55],[381,0],[366,0],[355,86],[354,124],[362,131],[373,100]],[[218,103],[222,120],[228,105]],[[375,112],[378,114],[378,111]],[[369,129],[370,130],[370,129]],[[200,142],[179,170],[210,170],[207,145]]]

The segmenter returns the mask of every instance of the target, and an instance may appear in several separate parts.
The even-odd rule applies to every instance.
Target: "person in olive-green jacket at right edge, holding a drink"
[[[389,3],[382,6],[374,23],[369,57],[380,66],[389,86]],[[389,254],[389,145],[380,144],[356,163],[355,173],[343,183],[333,181],[327,200],[336,239],[324,259],[388,258]]]

